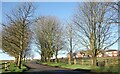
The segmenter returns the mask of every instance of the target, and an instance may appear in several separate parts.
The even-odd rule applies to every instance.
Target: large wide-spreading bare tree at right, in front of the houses
[[[87,2],[78,7],[73,22],[78,28],[80,42],[85,46],[93,58],[96,66],[96,56],[101,50],[109,48],[118,41],[116,11],[110,6],[112,3]]]

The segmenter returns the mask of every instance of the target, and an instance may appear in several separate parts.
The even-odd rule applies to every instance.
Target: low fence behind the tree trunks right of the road
[[[55,59],[52,59],[51,62],[55,62]],[[59,58],[59,63],[68,63],[67,58]],[[71,63],[74,63],[74,59],[72,59]],[[77,58],[76,64],[80,65],[92,65],[92,58]],[[118,64],[118,57],[102,57],[97,58],[96,65],[98,66],[113,66]]]

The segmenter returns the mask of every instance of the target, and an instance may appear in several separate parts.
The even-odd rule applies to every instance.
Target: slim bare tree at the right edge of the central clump
[[[55,54],[55,63],[58,63],[58,52],[64,48],[64,37],[63,37],[63,26],[60,24],[58,19],[56,19],[56,27],[54,30],[54,54]]]

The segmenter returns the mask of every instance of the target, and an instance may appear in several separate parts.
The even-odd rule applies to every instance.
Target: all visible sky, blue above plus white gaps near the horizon
[[[19,3],[2,2],[2,18],[0,18],[0,20],[3,20],[3,22],[6,21],[5,14],[10,14],[11,13],[10,11],[16,8],[20,4],[21,4],[20,2]],[[73,15],[74,10],[77,6],[76,2],[36,2],[34,4],[37,7],[35,11],[35,16],[41,16],[41,15],[56,16],[62,22],[66,22],[71,19],[71,16]],[[115,44],[114,46],[111,47],[111,49],[118,49],[117,46],[118,45]],[[34,44],[32,44],[32,49],[37,49]],[[59,55],[58,57],[66,56],[66,54],[62,54],[62,53],[64,53],[64,51],[61,52],[61,55]],[[35,54],[35,58],[40,58],[38,53],[34,53],[34,54]],[[14,57],[10,57],[7,54],[0,53],[0,60],[6,60],[6,59],[7,60],[14,59]]]

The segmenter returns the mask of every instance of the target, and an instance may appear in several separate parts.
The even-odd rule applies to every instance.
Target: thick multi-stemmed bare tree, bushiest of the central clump
[[[41,16],[36,20],[35,34],[38,40],[41,60],[50,62],[54,54],[55,38],[59,23],[53,16]],[[58,49],[57,49],[58,50]]]

